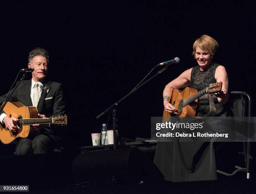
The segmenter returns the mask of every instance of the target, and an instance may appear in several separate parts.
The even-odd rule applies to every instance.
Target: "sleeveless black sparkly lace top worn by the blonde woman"
[[[218,63],[212,63],[212,65],[205,71],[200,71],[199,65],[193,67],[191,71],[190,87],[197,89],[199,92],[210,84],[216,83],[215,70],[219,65],[220,64]],[[209,95],[210,94],[206,93],[201,96],[199,100],[207,100],[210,97]],[[213,99],[217,99],[217,97],[213,95]]]

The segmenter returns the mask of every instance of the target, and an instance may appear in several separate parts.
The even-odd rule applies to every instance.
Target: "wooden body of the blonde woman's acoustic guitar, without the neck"
[[[170,100],[170,103],[175,107],[175,110],[178,112],[178,104],[181,100],[187,99],[188,97],[194,95],[197,93],[197,89],[186,87],[183,91],[179,89],[173,89],[172,91],[172,97]],[[182,108],[181,112],[178,112],[178,117],[194,117],[196,113],[197,108],[197,100],[189,103],[188,105],[184,106]],[[164,109],[163,113],[163,122],[169,121],[170,117],[174,115],[171,115],[169,112],[167,112]]]

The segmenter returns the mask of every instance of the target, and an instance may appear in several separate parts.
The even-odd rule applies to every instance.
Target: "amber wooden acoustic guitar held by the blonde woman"
[[[210,84],[209,87],[197,92],[197,89],[186,87],[183,91],[173,89],[170,104],[175,107],[178,117],[195,117],[197,99],[206,93],[221,91],[222,82]],[[172,115],[164,109],[163,120],[168,121]]]

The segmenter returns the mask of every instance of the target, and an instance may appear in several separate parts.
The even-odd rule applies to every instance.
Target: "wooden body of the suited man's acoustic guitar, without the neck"
[[[7,102],[4,112],[8,117],[17,119],[28,119],[37,117],[36,107],[26,107],[20,102]],[[0,124],[0,140],[5,143],[11,143],[15,138],[26,138],[30,132],[30,125],[23,125],[16,133],[11,132],[4,125]]]

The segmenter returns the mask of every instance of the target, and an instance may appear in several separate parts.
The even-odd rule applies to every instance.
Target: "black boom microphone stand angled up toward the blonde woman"
[[[157,66],[156,65],[153,69],[155,69]],[[127,97],[131,96],[131,94],[135,93],[140,87],[142,87],[143,85],[145,85],[146,83],[148,83],[149,81],[151,81],[151,79],[153,79],[154,77],[156,77],[157,75],[161,74],[163,71],[165,71],[167,68],[169,67],[169,65],[164,66],[163,69],[161,69],[160,71],[158,71],[154,76],[152,76],[151,78],[149,78],[148,80],[146,80],[145,82],[143,82],[141,85],[139,85],[148,75],[146,75],[146,77],[134,88],[131,90],[131,92],[129,92],[127,95],[125,95],[123,98],[121,98],[120,100],[118,100],[117,102],[115,102],[113,105],[111,105],[110,107],[108,107],[104,112],[100,113],[100,115],[98,115],[96,117],[96,119],[102,117],[103,115],[105,115],[106,112],[112,112],[112,116],[113,116],[113,139],[114,139],[114,150],[116,149],[116,130],[117,130],[117,110],[116,107],[119,105],[120,102],[122,102],[123,100],[125,100]],[[153,69],[151,71],[153,71]],[[151,71],[149,72],[149,74],[151,73]]]

